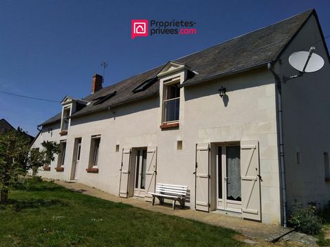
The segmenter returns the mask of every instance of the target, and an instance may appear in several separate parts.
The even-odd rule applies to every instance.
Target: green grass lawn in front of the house
[[[0,205],[0,246],[241,246],[236,233],[30,183]]]

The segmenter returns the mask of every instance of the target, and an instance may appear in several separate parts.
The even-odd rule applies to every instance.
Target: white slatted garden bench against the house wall
[[[153,205],[155,198],[158,198],[159,203],[164,202],[164,198],[173,200],[173,209],[175,209],[175,202],[178,201],[181,209],[184,208],[184,200],[186,199],[188,186],[182,185],[166,185],[157,183],[155,193],[149,192],[153,196]]]

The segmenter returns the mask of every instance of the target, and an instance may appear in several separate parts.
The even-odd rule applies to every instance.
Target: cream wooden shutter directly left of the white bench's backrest
[[[151,202],[153,197],[149,192],[155,192],[157,169],[157,147],[148,147],[146,151],[146,192],[144,200]]]

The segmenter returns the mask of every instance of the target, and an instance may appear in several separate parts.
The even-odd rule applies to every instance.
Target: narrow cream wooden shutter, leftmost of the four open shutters
[[[120,167],[119,196],[127,198],[129,188],[129,168],[131,165],[131,148],[122,149],[122,165]]]

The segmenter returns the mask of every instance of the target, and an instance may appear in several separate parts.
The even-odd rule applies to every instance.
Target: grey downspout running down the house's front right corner
[[[287,226],[287,186],[285,183],[285,161],[284,161],[284,142],[283,142],[283,111],[282,111],[282,81],[281,78],[275,73],[272,63],[268,62],[268,70],[274,75],[276,82],[277,92],[277,113],[278,113],[278,141],[280,153],[280,166],[281,166],[281,190],[283,199],[283,226]]]

